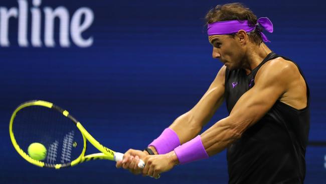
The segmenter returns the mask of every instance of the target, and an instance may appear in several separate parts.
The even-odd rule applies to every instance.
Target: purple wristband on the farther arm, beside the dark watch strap
[[[173,151],[180,145],[180,140],[175,131],[166,128],[149,146],[154,146],[158,154],[165,154]]]

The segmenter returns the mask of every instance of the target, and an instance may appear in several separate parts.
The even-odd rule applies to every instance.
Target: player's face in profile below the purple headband
[[[212,35],[208,40],[213,45],[213,58],[219,59],[229,70],[241,68],[244,51],[237,36]]]

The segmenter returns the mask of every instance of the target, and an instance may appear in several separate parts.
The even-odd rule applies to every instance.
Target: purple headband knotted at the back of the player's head
[[[258,28],[257,28],[258,27]],[[208,24],[207,33],[208,36],[211,35],[227,35],[232,33],[237,33],[239,30],[244,30],[246,32],[253,31],[256,29],[259,31],[264,42],[270,42],[267,37],[262,33],[263,29],[269,33],[273,33],[273,24],[267,17],[262,17],[257,20],[255,26],[249,26],[248,21],[219,21],[212,24]]]

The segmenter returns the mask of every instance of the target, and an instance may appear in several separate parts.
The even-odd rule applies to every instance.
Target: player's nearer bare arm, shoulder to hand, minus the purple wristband
[[[298,88],[298,85],[301,87]],[[302,85],[305,86],[304,80],[293,63],[273,60],[264,64],[256,75],[254,87],[241,96],[230,116],[218,121],[201,134],[206,152],[214,155],[239,139],[245,130],[259,121],[278,99],[291,105],[296,104],[292,107],[297,109],[305,107],[306,90]],[[297,94],[300,97],[296,96]],[[293,100],[297,103],[293,103]],[[146,156],[144,161],[146,166],[142,172],[153,176],[166,172],[179,163],[175,151],[164,155]]]

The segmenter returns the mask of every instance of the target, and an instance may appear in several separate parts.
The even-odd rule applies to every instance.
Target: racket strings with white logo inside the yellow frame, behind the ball
[[[76,125],[60,112],[42,106],[21,109],[14,119],[13,132],[21,149],[28,153],[33,142],[47,149],[46,164],[66,164],[83,150],[83,137]]]

